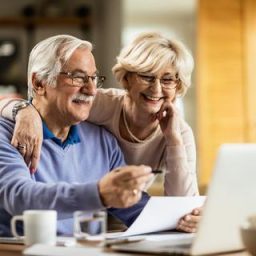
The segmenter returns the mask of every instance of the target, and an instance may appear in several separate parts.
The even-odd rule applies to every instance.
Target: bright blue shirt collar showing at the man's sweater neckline
[[[70,127],[67,139],[64,142],[62,142],[60,139],[55,137],[55,135],[49,130],[49,128],[47,127],[45,122],[43,122],[43,138],[44,138],[44,140],[47,140],[47,139],[53,140],[56,144],[58,144],[63,149],[67,145],[76,144],[76,143],[79,143],[81,141],[76,125],[72,125]]]

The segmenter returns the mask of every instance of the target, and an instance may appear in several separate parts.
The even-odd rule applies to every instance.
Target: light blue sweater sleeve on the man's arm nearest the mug
[[[97,182],[45,184],[33,180],[19,152],[0,136],[0,205],[11,215],[26,209],[54,209],[58,218],[76,210],[103,208]]]

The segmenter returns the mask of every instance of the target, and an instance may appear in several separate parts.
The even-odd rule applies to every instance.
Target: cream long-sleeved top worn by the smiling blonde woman
[[[168,171],[164,177],[165,195],[198,195],[195,140],[189,125],[184,120],[180,123],[182,146],[167,146],[160,126],[154,137],[142,143],[129,142],[119,132],[125,93],[121,89],[99,89],[88,121],[104,125],[115,135],[127,164]]]

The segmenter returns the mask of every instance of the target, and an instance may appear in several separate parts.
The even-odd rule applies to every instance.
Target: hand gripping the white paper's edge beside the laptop
[[[186,214],[181,218],[176,227],[179,231],[188,233],[195,233],[197,231],[198,223],[202,217],[202,208],[195,208],[191,213]]]

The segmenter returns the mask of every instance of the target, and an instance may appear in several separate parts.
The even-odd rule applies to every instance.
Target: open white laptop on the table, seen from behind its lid
[[[112,249],[151,254],[204,255],[244,248],[240,225],[256,214],[256,144],[220,147],[203,216],[192,241],[141,241]]]

